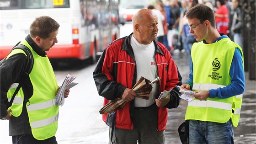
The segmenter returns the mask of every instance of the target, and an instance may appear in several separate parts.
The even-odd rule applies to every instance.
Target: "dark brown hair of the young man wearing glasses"
[[[187,18],[197,18],[201,23],[203,21],[210,21],[211,26],[215,27],[215,16],[213,10],[204,4],[199,4],[191,9],[189,9],[186,13]]]

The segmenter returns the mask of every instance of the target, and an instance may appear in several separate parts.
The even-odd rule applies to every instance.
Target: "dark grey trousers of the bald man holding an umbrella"
[[[112,140],[112,127],[109,128],[109,144],[165,144],[165,130],[159,132],[157,128],[156,105],[135,109],[134,117],[136,127],[133,130],[115,128]]]

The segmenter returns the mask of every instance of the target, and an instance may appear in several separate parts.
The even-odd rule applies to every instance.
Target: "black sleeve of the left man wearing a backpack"
[[[26,60],[27,57],[25,54],[17,53],[4,60],[0,65],[0,117],[7,115],[7,92],[11,84],[19,82],[24,71]]]

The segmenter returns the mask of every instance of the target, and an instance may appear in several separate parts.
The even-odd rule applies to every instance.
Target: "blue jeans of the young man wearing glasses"
[[[190,120],[189,144],[234,144],[231,120],[227,123]]]

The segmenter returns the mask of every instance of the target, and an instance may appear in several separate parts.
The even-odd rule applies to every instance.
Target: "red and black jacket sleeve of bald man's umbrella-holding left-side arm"
[[[126,89],[122,84],[117,83],[113,71],[113,58],[115,54],[109,45],[103,53],[93,71],[93,78],[96,84],[97,91],[100,96],[107,100],[114,100],[117,97],[122,97],[123,91]]]

